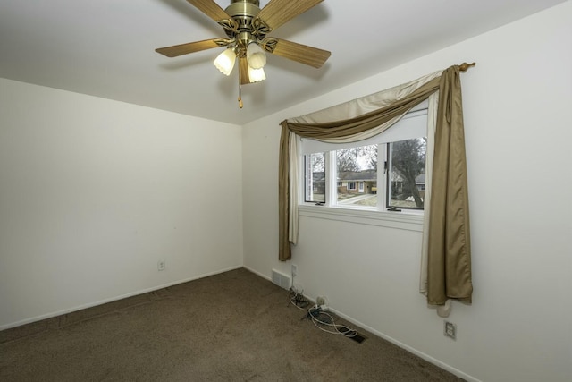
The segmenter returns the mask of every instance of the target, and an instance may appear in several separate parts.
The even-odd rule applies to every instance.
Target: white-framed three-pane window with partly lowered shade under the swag
[[[423,210],[426,125],[425,104],[367,140],[302,140],[306,201],[339,208]]]

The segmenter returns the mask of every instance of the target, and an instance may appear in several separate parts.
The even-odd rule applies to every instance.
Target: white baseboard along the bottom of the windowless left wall
[[[147,288],[147,289],[143,289],[140,291],[136,291],[136,292],[132,292],[132,293],[126,293],[126,294],[122,294],[120,296],[116,296],[116,297],[112,297],[109,299],[105,299],[105,300],[100,300],[100,301],[96,301],[96,302],[90,302],[88,304],[83,304],[83,305],[79,305],[70,309],[66,309],[66,310],[58,310],[58,311],[54,311],[54,312],[50,312],[50,313],[46,313],[43,314],[41,316],[37,316],[34,318],[26,318],[26,319],[22,319],[21,321],[17,321],[17,322],[13,322],[10,324],[5,324],[0,326],[0,331],[5,330],[5,329],[11,329],[13,327],[21,327],[22,325],[27,325],[27,324],[31,324],[33,322],[37,322],[37,321],[41,321],[42,319],[47,319],[47,318],[54,318],[57,316],[62,316],[63,314],[69,314],[71,312],[74,311],[78,311],[78,310],[84,310],[84,309],[88,309],[88,308],[93,308],[96,307],[97,305],[103,305],[105,303],[108,302],[113,302],[113,301],[118,301],[118,300],[122,300],[122,299],[126,299],[129,297],[133,297],[133,296],[137,296],[139,294],[144,294],[144,293],[149,293],[149,292],[154,292],[154,291],[158,291],[160,289],[164,289],[164,288],[168,288],[169,286],[173,286],[173,285],[177,285],[177,284],[183,284],[183,283],[189,283],[189,281],[195,281],[198,280],[199,278],[204,278],[204,277],[208,277],[208,276],[214,276],[214,275],[218,275],[224,272],[229,272],[231,270],[235,270],[235,269],[240,269],[242,266],[236,266],[236,267],[228,267],[228,268],[224,268],[224,269],[220,269],[214,272],[209,272],[209,273],[205,273],[205,274],[201,274],[198,276],[193,276],[193,277],[189,277],[186,279],[182,279],[182,280],[177,280],[177,281],[173,281],[171,283],[167,283],[167,284],[161,284],[161,285],[157,285],[157,286],[153,286],[151,288]],[[248,269],[250,270],[250,269]],[[256,273],[256,272],[254,272]],[[265,277],[267,278],[267,277]]]

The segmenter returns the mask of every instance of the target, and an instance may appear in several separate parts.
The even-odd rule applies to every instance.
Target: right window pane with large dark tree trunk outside
[[[426,139],[388,143],[388,149],[388,207],[423,209]]]

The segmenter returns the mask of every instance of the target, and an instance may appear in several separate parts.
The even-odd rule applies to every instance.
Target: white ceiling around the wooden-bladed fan
[[[0,77],[243,124],[565,1],[325,0],[270,35],[331,51],[326,64],[269,55],[240,110],[237,69],[212,64],[222,48],[155,52],[225,36],[185,0],[0,0]]]

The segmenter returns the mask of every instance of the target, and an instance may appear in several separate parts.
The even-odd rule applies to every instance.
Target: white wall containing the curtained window
[[[568,1],[244,126],[245,267],[297,264],[308,296],[469,380],[572,380],[570,20]],[[475,293],[452,341],[416,293],[418,232],[303,216],[277,260],[278,123],[463,61]]]

